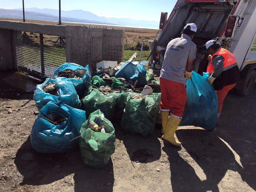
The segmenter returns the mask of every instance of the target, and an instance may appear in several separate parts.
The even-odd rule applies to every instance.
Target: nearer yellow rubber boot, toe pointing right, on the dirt
[[[170,142],[175,146],[181,146],[181,143],[174,138],[174,134],[180,124],[180,121],[181,119],[170,115],[166,124],[164,135],[162,136],[162,139]]]

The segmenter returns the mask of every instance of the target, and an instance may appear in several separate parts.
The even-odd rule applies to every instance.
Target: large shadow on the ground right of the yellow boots
[[[229,94],[219,126],[208,132],[180,129],[176,135],[184,150],[164,142],[163,150],[170,161],[171,184],[174,192],[218,192],[220,181],[228,183],[228,170],[238,172],[244,182],[256,190],[256,91],[248,97]],[[250,102],[246,102],[250,100]],[[239,109],[239,110],[238,110]],[[194,169],[196,167],[196,169]],[[225,176],[225,179],[222,180]],[[235,178],[239,180],[239,178]],[[229,190],[226,186],[226,190]]]

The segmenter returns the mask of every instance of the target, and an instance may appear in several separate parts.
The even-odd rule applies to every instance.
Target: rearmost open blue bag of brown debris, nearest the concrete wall
[[[54,78],[59,77],[58,73],[61,72],[61,71],[66,70],[66,69],[71,69],[71,70],[74,70],[74,71],[76,71],[78,69],[85,69],[86,70],[86,73],[84,74],[84,77],[82,77],[82,79],[68,78],[68,80],[67,80],[67,81],[70,81],[74,84],[74,86],[76,88],[76,92],[78,93],[78,95],[81,96],[82,94],[84,94],[86,89],[90,86],[89,84],[84,82],[84,81],[91,82],[92,74],[90,72],[89,65],[86,65],[85,67],[83,67],[83,66],[80,66],[80,65],[75,64],[75,63],[64,63],[55,70]]]

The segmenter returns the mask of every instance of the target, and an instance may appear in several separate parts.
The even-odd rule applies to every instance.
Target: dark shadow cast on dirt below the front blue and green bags
[[[63,182],[74,185],[75,192],[113,191],[112,161],[104,169],[85,167],[78,149],[66,154],[41,154],[32,148],[28,137],[18,150],[14,163],[24,176],[20,185],[50,184],[64,178]],[[74,184],[65,178],[70,174],[74,174]]]

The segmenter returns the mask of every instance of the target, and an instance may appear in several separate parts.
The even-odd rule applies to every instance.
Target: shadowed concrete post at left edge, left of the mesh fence
[[[12,30],[0,29],[0,70],[13,70]]]

